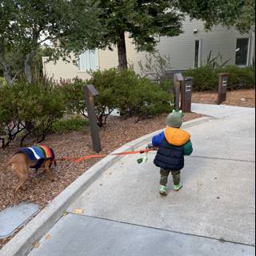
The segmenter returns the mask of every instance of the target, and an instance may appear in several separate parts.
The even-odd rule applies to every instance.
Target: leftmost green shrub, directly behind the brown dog
[[[8,146],[21,133],[21,145],[29,135],[42,142],[64,110],[62,90],[58,87],[19,82],[0,88],[0,127],[5,132],[2,146]]]

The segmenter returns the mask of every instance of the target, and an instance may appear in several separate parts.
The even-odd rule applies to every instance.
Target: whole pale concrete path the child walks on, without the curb
[[[30,255],[255,255],[255,110],[193,106],[194,154],[178,193],[158,194],[159,170],[138,156],[110,166]],[[228,109],[228,110],[227,110]],[[82,215],[72,214],[83,210]]]

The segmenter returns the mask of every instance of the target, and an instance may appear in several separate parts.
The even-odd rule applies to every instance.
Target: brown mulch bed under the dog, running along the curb
[[[184,122],[199,117],[202,117],[202,115],[186,114]],[[122,120],[121,118],[110,117],[107,125],[100,131],[102,154],[110,154],[127,142],[164,128],[166,126],[166,114],[142,120],[138,123],[134,123],[134,121],[134,118]],[[45,143],[54,149],[57,158],[94,154],[91,149],[88,127],[84,132],[70,132],[60,135],[51,134],[46,138]],[[28,144],[27,146],[31,145]],[[37,174],[34,174],[32,170],[30,178],[26,182],[26,190],[20,191],[18,199],[14,200],[13,189],[18,179],[10,168],[4,170],[4,166],[18,148],[18,142],[13,142],[7,149],[0,150],[0,211],[20,202],[35,203],[42,209],[60,194],[66,186],[69,186],[71,182],[74,182],[90,166],[93,166],[100,160],[89,160],[76,165],[72,162],[58,162],[58,165],[54,167],[55,182],[50,182],[42,171],[39,170]],[[9,240],[10,238],[0,239],[0,249]]]

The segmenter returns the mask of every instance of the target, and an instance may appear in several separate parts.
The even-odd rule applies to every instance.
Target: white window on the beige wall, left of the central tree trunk
[[[86,50],[79,55],[78,70],[80,72],[98,70],[98,52],[97,50]]]

